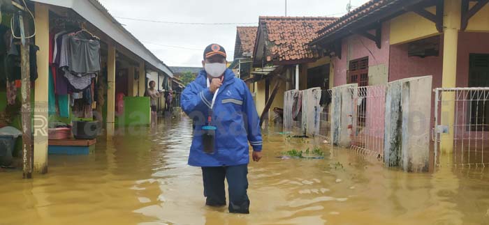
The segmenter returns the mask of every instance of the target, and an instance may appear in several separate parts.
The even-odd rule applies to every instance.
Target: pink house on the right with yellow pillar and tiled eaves
[[[481,150],[489,137],[487,91],[478,88],[489,86],[488,18],[488,1],[372,0],[320,29],[311,45],[332,56],[334,86],[432,76],[432,88],[445,88],[426,96],[441,150],[471,140]]]

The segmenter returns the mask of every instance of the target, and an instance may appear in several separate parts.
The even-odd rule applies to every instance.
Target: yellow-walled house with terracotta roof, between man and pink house
[[[284,108],[284,92],[309,87],[329,88],[329,59],[309,42],[334,17],[259,17],[251,77],[256,108],[271,122],[274,108]],[[267,104],[268,102],[268,104]],[[268,114],[268,115],[267,115]]]

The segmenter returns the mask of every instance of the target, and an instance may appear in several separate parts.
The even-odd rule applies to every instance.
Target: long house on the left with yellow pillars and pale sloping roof
[[[152,54],[122,24],[117,22],[97,0],[31,0],[21,4],[15,3],[16,8],[11,11],[6,10],[6,8],[13,7],[9,5],[10,1],[3,2],[2,15],[12,15],[12,11],[17,12],[18,10],[33,12],[34,18],[29,17],[29,21],[31,19],[34,20],[34,24],[31,24],[31,29],[28,29],[26,33],[33,32],[33,26],[35,26],[36,35],[29,41],[39,47],[36,59],[31,59],[31,63],[37,64],[37,79],[32,82],[32,100],[34,102],[33,105],[39,107],[40,110],[34,110],[34,115],[32,116],[34,118],[34,130],[32,130],[34,140],[31,144],[34,146],[34,156],[24,155],[23,157],[24,160],[27,160],[24,164],[24,176],[26,178],[31,177],[33,171],[37,173],[46,173],[48,171],[48,145],[50,141],[48,141],[48,123],[46,123],[46,119],[49,118],[51,120],[51,118],[61,117],[60,115],[51,115],[51,113],[57,114],[55,110],[49,112],[44,110],[44,108],[48,109],[47,104],[49,104],[49,107],[54,105],[54,108],[56,108],[55,104],[59,103],[57,98],[58,100],[60,98],[60,95],[54,95],[53,88],[51,88],[53,82],[50,79],[52,77],[50,73],[50,66],[52,65],[52,61],[50,61],[50,42],[52,40],[50,37],[53,35],[50,36],[50,32],[70,27],[76,31],[83,31],[99,38],[101,44],[101,72],[98,75],[98,81],[106,83],[105,86],[98,86],[98,96],[105,97],[103,97],[103,100],[100,100],[101,98],[96,99],[96,110],[90,111],[90,114],[96,115],[98,121],[104,121],[105,131],[108,136],[115,132],[116,90],[119,90],[119,93],[131,96],[131,99],[134,100],[133,102],[147,102],[149,104],[148,98],[137,97],[143,96],[147,88],[145,80],[147,71],[154,71],[164,77],[173,77],[173,72],[168,69],[168,66]],[[29,62],[27,63],[29,64]],[[59,86],[60,84],[57,85]],[[68,99],[66,94],[61,97],[66,97],[63,98],[64,100]],[[125,105],[127,106],[127,104]],[[66,106],[68,107],[68,105]],[[146,107],[135,110],[139,110],[149,118],[149,109]],[[65,118],[66,123],[71,123],[73,114],[70,112],[73,111],[69,108],[66,111],[68,111]]]

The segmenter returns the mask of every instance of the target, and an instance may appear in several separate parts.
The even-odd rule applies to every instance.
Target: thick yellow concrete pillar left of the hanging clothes
[[[36,3],[36,45],[38,78],[34,92],[34,172],[48,172],[48,81],[49,81],[49,8]]]

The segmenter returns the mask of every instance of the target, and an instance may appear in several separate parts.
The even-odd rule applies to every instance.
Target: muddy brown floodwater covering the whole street
[[[489,224],[489,168],[403,173],[327,146],[324,160],[283,160],[313,143],[274,132],[249,164],[251,214],[231,215],[204,205],[188,119],[130,132],[91,155],[51,155],[32,180],[0,173],[0,224]]]

